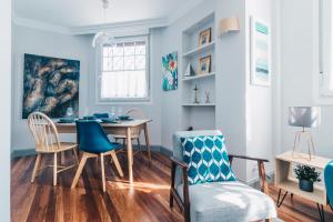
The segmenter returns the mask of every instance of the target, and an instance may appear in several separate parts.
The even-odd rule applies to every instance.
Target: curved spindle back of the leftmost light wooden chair
[[[48,115],[32,112],[28,117],[28,127],[32,133],[37,152],[53,152],[60,149],[57,128]]]

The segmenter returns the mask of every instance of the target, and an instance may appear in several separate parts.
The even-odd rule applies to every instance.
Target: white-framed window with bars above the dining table
[[[117,38],[100,50],[99,101],[149,99],[148,37]]]

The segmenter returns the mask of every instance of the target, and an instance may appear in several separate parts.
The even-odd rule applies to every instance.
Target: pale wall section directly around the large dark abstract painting
[[[13,124],[12,150],[33,149],[27,120],[22,120],[23,56],[24,53],[80,60],[80,111],[88,105],[88,46],[90,38],[73,37],[13,26]],[[72,140],[74,137],[65,135]]]

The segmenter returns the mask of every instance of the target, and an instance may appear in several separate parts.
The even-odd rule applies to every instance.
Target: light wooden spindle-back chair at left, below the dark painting
[[[32,133],[36,142],[37,159],[32,171],[31,182],[41,171],[48,167],[53,168],[53,185],[57,185],[57,175],[60,172],[69,170],[79,164],[75,143],[60,142],[59,134],[53,121],[41,112],[33,112],[28,117],[28,127]],[[72,150],[75,164],[72,165],[58,165],[58,153]],[[40,168],[41,158],[44,154],[53,154],[53,165],[46,165]]]

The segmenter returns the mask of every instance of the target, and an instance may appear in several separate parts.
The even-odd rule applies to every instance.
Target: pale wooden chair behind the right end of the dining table
[[[125,114],[130,115],[131,118],[134,118],[134,119],[144,119],[143,112],[139,109],[130,109],[125,112]],[[131,139],[137,141],[138,148],[139,148],[139,150],[137,152],[134,152],[134,154],[138,153],[138,152],[140,152],[142,154],[142,149],[141,149],[141,143],[140,143],[140,134],[141,134],[142,131],[143,131],[143,127],[132,129]],[[113,134],[113,137],[117,141],[122,139],[123,148],[125,148],[127,135],[124,135],[124,134]],[[148,151],[148,155],[149,155],[149,161],[151,161],[150,148],[148,148],[147,151]]]

